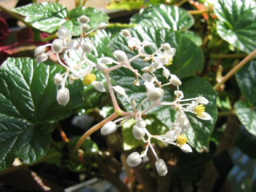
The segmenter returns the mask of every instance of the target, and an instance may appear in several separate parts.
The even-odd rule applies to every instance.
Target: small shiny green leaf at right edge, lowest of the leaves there
[[[245,129],[256,136],[256,110],[249,103],[244,101],[235,102],[236,115]]]

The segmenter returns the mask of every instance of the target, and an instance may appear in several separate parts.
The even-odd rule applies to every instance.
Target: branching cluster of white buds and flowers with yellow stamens
[[[113,105],[116,109],[119,109],[116,101],[116,94],[122,95],[127,102],[130,103],[132,111],[127,111],[122,114],[123,117],[116,119],[115,121],[109,121],[101,128],[102,135],[108,135],[117,130],[119,126],[122,126],[130,119],[135,119],[135,125],[132,128],[134,137],[138,140],[142,140],[146,143],[145,150],[142,153],[134,152],[127,157],[127,164],[130,166],[137,166],[142,162],[142,158],[147,156],[148,148],[150,147],[156,157],[156,169],[159,175],[165,175],[167,173],[167,166],[163,159],[159,159],[153,146],[151,145],[151,139],[157,139],[162,141],[166,145],[168,143],[179,147],[182,151],[191,152],[191,147],[187,144],[186,132],[189,130],[189,121],[185,112],[193,113],[198,118],[204,120],[210,120],[211,116],[205,112],[204,105],[209,102],[202,95],[196,98],[185,99],[185,95],[179,86],[182,84],[180,79],[171,74],[166,66],[172,65],[173,57],[176,52],[175,48],[172,48],[169,43],[164,43],[158,47],[158,49],[152,54],[146,54],[144,49],[150,45],[148,41],[140,41],[137,37],[132,37],[129,30],[122,30],[121,33],[127,38],[127,45],[130,50],[138,52],[132,58],[128,58],[126,53],[121,50],[116,50],[113,55],[114,58],[103,57],[98,59],[98,63],[94,63],[86,57],[86,53],[90,53],[93,50],[93,42],[90,39],[83,38],[97,29],[104,29],[107,27],[106,23],[101,23],[97,28],[85,33],[85,30],[89,29],[87,23],[89,18],[82,16],[78,18],[81,22],[81,37],[79,41],[71,39],[71,33],[65,27],[60,27],[58,31],[58,39],[55,39],[52,44],[46,44],[40,46],[35,51],[35,57],[37,62],[43,62],[47,59],[49,54],[55,53],[59,63],[66,68],[66,72],[63,74],[56,74],[54,82],[56,85],[61,85],[61,89],[57,93],[57,101],[60,105],[67,105],[69,101],[69,90],[65,87],[65,84],[73,83],[77,79],[82,79],[84,85],[93,85],[97,91],[105,91],[105,87],[102,82],[96,81],[95,74],[92,70],[98,69],[105,74],[108,90],[110,92]],[[45,47],[51,46],[52,52],[45,53]],[[76,49],[81,52],[81,58],[77,64],[71,65],[67,63],[65,65],[59,57],[59,54],[63,50]],[[138,58],[143,58],[143,61],[151,61],[150,65],[142,68],[141,70],[134,69],[131,63]],[[111,67],[108,65],[111,64]],[[141,82],[145,86],[145,98],[140,103],[136,103],[134,99],[129,98],[123,89],[123,87],[111,84],[109,73],[115,69],[124,67],[131,70],[134,75],[134,82],[131,86],[139,86]],[[158,80],[155,72],[161,70],[163,76],[166,78],[166,83],[162,83]],[[69,81],[67,81],[69,78]],[[175,100],[173,102],[162,102],[164,94],[164,87],[167,85],[173,85],[177,87],[174,91]],[[145,103],[150,103],[147,107],[142,109]],[[170,106],[177,111],[175,121],[170,125],[170,130],[163,135],[152,135],[147,130],[147,123],[142,119],[142,116],[149,113],[150,109],[155,106]]]

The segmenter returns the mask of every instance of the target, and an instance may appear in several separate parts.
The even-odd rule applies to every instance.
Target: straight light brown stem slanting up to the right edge
[[[253,57],[256,55],[256,49],[251,52],[249,55],[247,55],[246,58],[244,58],[241,62],[239,62],[233,69],[231,69],[222,79],[221,82],[214,85],[213,89],[217,90],[220,85],[228,81],[228,79],[233,76],[240,68],[242,68],[247,62],[249,62]]]

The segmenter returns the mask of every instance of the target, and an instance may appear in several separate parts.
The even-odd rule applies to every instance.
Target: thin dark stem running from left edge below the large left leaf
[[[55,152],[55,153],[52,153],[50,155],[46,155],[44,157],[42,157],[41,159],[39,159],[39,161],[37,161],[36,163],[33,163],[33,164],[21,164],[19,166],[13,166],[13,167],[10,167],[9,169],[6,169],[6,170],[3,170],[3,171],[0,171],[0,177],[5,175],[5,174],[9,174],[9,173],[12,173],[14,171],[18,171],[20,169],[23,169],[25,167],[29,167],[29,166],[34,166],[34,165],[37,165],[39,163],[43,163],[43,162],[46,162],[48,161],[49,159],[51,158],[54,158],[55,156],[58,156],[59,155],[59,152]]]

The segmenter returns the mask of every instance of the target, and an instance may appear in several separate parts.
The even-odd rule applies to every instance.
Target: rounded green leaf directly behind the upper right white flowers
[[[176,53],[173,57],[173,65],[167,67],[167,69],[179,78],[192,76],[196,71],[202,70],[204,60],[202,50],[178,31],[147,26],[137,26],[129,30],[132,36],[138,37],[141,41],[147,40],[153,43],[149,47],[145,47],[147,54],[154,53],[163,43],[170,43],[170,45],[176,49]],[[111,46],[113,51],[123,50],[128,58],[132,58],[134,55],[138,54],[137,51],[131,51],[129,49],[127,39],[122,35],[114,37],[113,41],[111,41]],[[141,66],[141,68],[149,66],[149,62],[142,62],[140,58],[133,63],[134,66]]]

